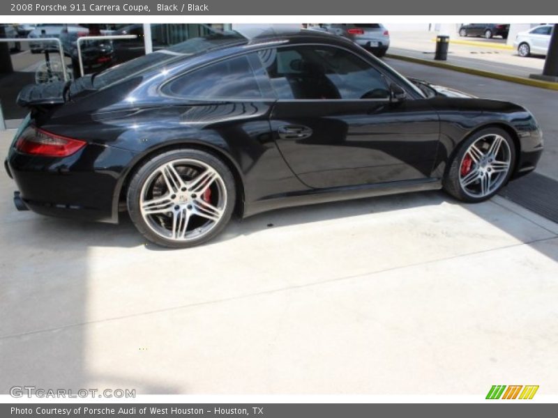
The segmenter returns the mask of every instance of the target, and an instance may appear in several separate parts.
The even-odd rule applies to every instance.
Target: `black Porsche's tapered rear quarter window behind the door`
[[[246,55],[188,72],[165,84],[161,91],[167,95],[196,100],[262,98],[262,91]]]

